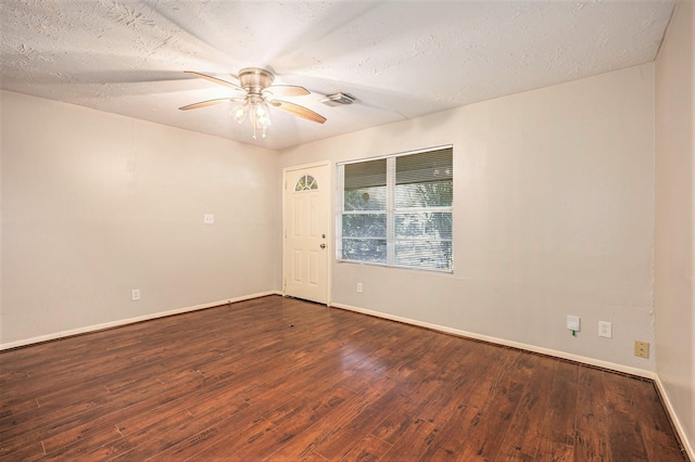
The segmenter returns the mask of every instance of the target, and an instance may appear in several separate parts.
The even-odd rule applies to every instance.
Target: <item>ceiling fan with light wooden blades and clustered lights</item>
[[[229,87],[232,90],[244,94],[232,98],[217,98],[214,100],[201,101],[199,103],[179,107],[179,110],[195,110],[199,107],[224,103],[226,101],[237,101],[240,104],[231,110],[229,114],[239,124],[241,124],[247,118],[247,115],[249,115],[251,127],[253,127],[254,139],[256,138],[257,131],[261,131],[263,133],[263,138],[265,138],[265,130],[270,127],[269,106],[278,107],[292,115],[311,121],[316,121],[318,124],[326,121],[326,117],[307,107],[290,103],[289,101],[276,100],[275,97],[303,97],[311,92],[304,87],[298,87],[294,85],[273,85],[275,76],[269,70],[258,67],[243,68],[239,72],[239,85],[191,70],[186,70],[186,74],[210,80],[214,84],[224,85],[225,87]]]

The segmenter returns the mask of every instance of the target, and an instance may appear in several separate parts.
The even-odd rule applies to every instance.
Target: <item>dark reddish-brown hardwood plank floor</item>
[[[0,352],[0,460],[683,461],[654,384],[270,296]]]

